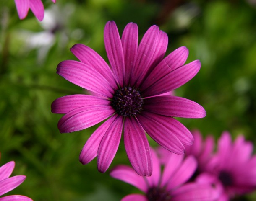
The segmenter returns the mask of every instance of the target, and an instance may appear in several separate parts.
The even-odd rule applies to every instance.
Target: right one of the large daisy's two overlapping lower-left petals
[[[110,166],[121,139],[123,129],[123,116],[117,116],[115,121],[107,129],[106,134],[99,144],[97,164],[98,170],[101,173],[106,172]]]

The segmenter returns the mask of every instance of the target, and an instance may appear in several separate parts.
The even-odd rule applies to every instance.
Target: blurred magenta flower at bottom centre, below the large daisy
[[[152,150],[153,173],[151,177],[141,177],[126,165],[118,165],[110,172],[116,179],[123,180],[145,193],[125,196],[121,201],[214,201],[219,192],[210,184],[186,183],[196,170],[193,156],[184,158],[169,152],[161,174],[160,160]]]

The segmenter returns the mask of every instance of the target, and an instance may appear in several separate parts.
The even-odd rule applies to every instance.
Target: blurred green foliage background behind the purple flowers
[[[187,46],[187,63],[201,60],[196,77],[175,90],[206,109],[204,119],[179,119],[188,129],[215,139],[227,130],[256,145],[256,0],[42,2],[39,22],[31,11],[20,21],[14,0],[0,0],[0,165],[14,160],[13,175],[27,176],[9,194],[34,201],[118,201],[139,193],[109,175],[115,165],[129,164],[123,139],[110,169],[99,173],[96,159],[88,165],[78,160],[98,125],[60,134],[62,115],[50,111],[56,98],[85,93],[56,74],[59,62],[77,60],[71,46],[85,44],[107,61],[103,30],[109,20],[120,34],[127,23],[137,23],[140,39],[157,24],[169,36],[166,55]],[[240,200],[256,200],[256,193]]]

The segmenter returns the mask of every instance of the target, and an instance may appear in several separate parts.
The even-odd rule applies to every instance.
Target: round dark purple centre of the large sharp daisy
[[[124,87],[115,91],[111,106],[122,116],[132,116],[141,111],[142,103],[138,90]]]

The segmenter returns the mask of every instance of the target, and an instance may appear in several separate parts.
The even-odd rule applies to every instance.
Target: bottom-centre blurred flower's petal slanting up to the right
[[[185,158],[180,168],[172,175],[167,183],[167,189],[171,190],[188,181],[196,171],[197,162],[193,156]]]

